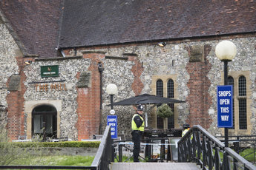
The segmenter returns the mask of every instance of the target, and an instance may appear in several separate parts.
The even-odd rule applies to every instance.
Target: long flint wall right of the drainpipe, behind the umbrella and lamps
[[[234,38],[231,40],[237,46],[237,55],[232,62],[229,63],[229,71],[249,71],[250,72],[250,89],[252,90],[252,96],[247,96],[252,99],[252,106],[249,108],[252,110],[251,124],[254,126],[252,134],[255,132],[255,98],[256,98],[256,69],[255,69],[255,38]],[[151,94],[151,77],[152,75],[177,75],[177,84],[175,88],[178,89],[178,96],[175,98],[186,101],[189,95],[189,89],[187,86],[190,76],[186,71],[186,66],[189,62],[190,56],[186,48],[188,47],[202,47],[209,45],[211,51],[206,56],[206,60],[211,64],[211,69],[207,78],[211,82],[208,89],[208,95],[211,96],[211,106],[206,108],[204,112],[209,114],[212,123],[208,131],[212,135],[221,135],[221,129],[217,128],[217,95],[216,86],[221,82],[221,74],[223,74],[223,64],[215,55],[215,47],[219,41],[191,41],[180,44],[167,44],[165,47],[158,47],[156,45],[137,45],[131,47],[119,47],[101,49],[105,51],[106,55],[123,57],[124,53],[136,53],[138,59],[143,63],[144,71],[140,76],[140,80],[143,83],[143,89],[141,94]],[[131,84],[134,81],[134,75],[131,72],[131,67],[134,65],[133,61],[118,61],[105,59],[105,70],[103,72],[103,113],[102,113],[102,127],[105,127],[106,115],[109,115],[110,107],[106,106],[110,104],[110,98],[105,93],[105,87],[114,83],[119,87],[118,95],[114,96],[115,101],[121,101],[126,98],[134,97],[134,92],[131,89]],[[180,103],[177,105],[177,111],[179,112],[178,123],[181,128],[183,123],[186,123],[189,114],[189,104]],[[132,106],[114,106],[116,115],[118,115],[118,131],[119,134],[125,133],[128,137],[131,132],[131,117],[134,114]]]

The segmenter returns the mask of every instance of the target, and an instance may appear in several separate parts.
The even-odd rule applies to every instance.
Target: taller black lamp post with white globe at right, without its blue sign
[[[228,62],[237,54],[237,47],[232,41],[221,41],[215,48],[215,54],[224,63],[224,85],[228,85]],[[229,146],[229,129],[225,128],[225,147]]]

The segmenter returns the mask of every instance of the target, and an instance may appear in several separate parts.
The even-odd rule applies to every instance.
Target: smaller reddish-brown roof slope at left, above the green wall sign
[[[62,0],[1,0],[0,10],[16,33],[24,55],[50,58],[56,50]],[[3,19],[5,21],[5,19]],[[9,27],[9,29],[10,29]]]

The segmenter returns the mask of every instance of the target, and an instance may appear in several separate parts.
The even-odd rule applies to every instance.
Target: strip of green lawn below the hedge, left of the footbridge
[[[15,160],[19,166],[91,166],[93,156],[42,156]]]

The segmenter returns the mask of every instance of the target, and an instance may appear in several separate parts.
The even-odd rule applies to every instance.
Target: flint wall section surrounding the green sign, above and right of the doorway
[[[76,77],[78,72],[87,71],[91,61],[88,59],[70,59],[56,61],[36,61],[25,67],[24,72],[27,76],[27,81],[24,85],[27,90],[24,94],[25,101],[44,101],[44,100],[61,100],[62,110],[60,112],[60,136],[69,137],[72,140],[77,140],[77,83]],[[59,77],[41,78],[40,66],[59,65]],[[66,91],[36,91],[35,84],[31,82],[46,82],[46,81],[62,81],[66,85]]]

